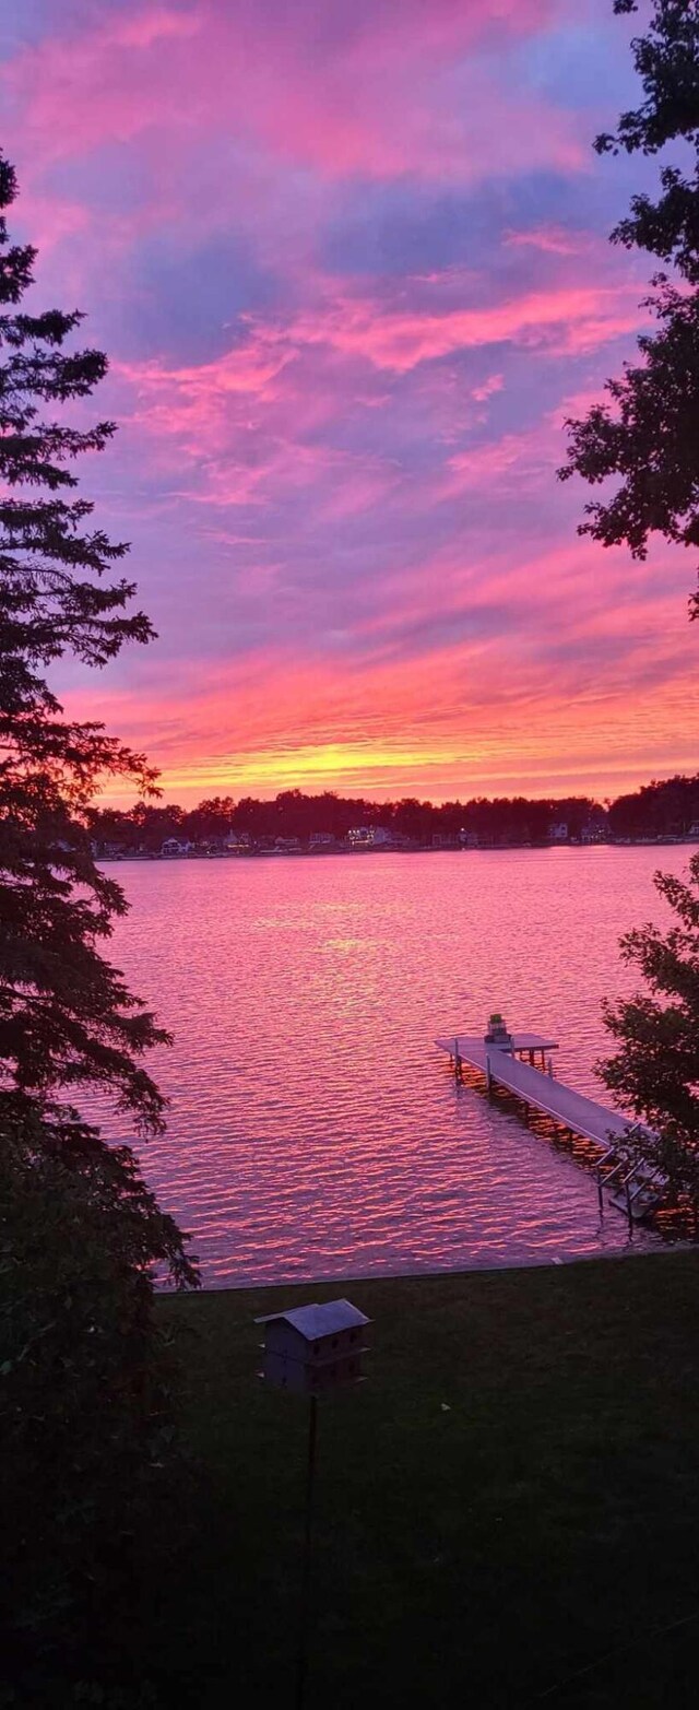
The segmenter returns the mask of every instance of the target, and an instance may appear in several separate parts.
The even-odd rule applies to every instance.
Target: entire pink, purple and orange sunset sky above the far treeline
[[[696,568],[576,535],[658,162],[612,0],[5,0],[27,308],[109,352],[84,460],[159,641],[62,677],[166,795],[617,793],[696,770]]]

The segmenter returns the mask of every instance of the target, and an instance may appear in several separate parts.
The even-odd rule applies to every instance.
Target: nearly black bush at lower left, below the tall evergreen
[[[0,1507],[3,1657],[84,1645],[128,1597],[138,1512],[171,1442],[174,1363],[156,1267],[197,1281],[126,1147],[2,1115]],[[104,1618],[104,1613],[101,1619]],[[19,1666],[19,1662],[17,1662]],[[7,1678],[7,1669],[5,1669]]]

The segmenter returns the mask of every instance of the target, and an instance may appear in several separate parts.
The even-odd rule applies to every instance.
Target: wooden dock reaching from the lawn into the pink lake
[[[648,1216],[661,1197],[660,1171],[649,1171],[634,1165],[629,1168],[627,1158],[617,1158],[617,1144],[629,1137],[629,1130],[639,1134],[641,1123],[629,1123],[619,1110],[598,1105],[593,1098],[584,1098],[571,1086],[554,1079],[550,1052],[557,1050],[555,1040],[547,1040],[538,1033],[513,1033],[509,1048],[487,1045],[484,1038],[453,1035],[434,1040],[441,1052],[448,1052],[456,1077],[461,1077],[463,1065],[484,1076],[487,1089],[502,1088],[521,1100],[526,1108],[540,1110],[545,1117],[561,1123],[569,1134],[591,1141],[600,1149],[596,1159],[596,1185],[600,1207],[603,1194],[612,1204],[624,1211],[629,1221]],[[542,1067],[535,1067],[535,1062]],[[648,1132],[648,1130],[646,1130]]]

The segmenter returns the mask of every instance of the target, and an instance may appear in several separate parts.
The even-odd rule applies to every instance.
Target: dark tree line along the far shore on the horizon
[[[342,841],[355,826],[386,826],[398,840],[422,845],[432,845],[434,838],[456,841],[461,829],[482,843],[547,843],[552,824],[566,824],[573,840],[590,829],[614,838],[687,836],[699,824],[699,773],[646,783],[605,804],[586,795],[369,802],[333,790],[320,795],[282,790],[273,800],[246,795],[236,802],[231,795],[214,795],[191,809],[152,802],[130,809],[92,807],[87,817],[97,846],[133,853],[159,853],[167,838],[215,843],[231,833],[248,834],[253,843],[275,838],[308,843],[320,833]]]

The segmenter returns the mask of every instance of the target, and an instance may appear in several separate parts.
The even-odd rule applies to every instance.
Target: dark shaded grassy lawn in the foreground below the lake
[[[374,1351],[320,1404],[309,1710],[694,1705],[697,1253],[162,1300],[203,1476],[133,1635],[157,1703],[294,1701],[308,1404],[253,1318],[342,1293]]]

